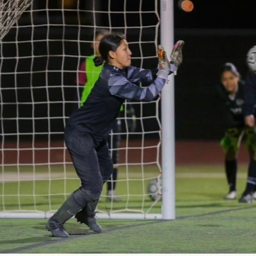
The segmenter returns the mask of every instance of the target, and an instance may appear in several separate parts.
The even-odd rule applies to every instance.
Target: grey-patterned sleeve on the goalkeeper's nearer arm
[[[129,81],[122,74],[113,74],[108,79],[108,88],[111,95],[116,95],[124,99],[151,101],[161,92],[165,79],[156,77],[156,79],[147,87],[140,86]]]

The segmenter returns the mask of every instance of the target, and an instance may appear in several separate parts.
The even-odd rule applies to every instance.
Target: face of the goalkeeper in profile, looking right
[[[131,65],[132,52],[129,49],[127,41],[122,40],[116,51],[109,51],[109,63],[120,69],[129,67]]]

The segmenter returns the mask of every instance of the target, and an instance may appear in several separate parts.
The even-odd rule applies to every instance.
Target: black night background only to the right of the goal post
[[[175,39],[182,38],[184,63],[175,79],[176,137],[218,139],[223,134],[215,84],[225,62],[246,76],[246,53],[256,44],[253,1],[195,0],[191,13],[175,4]]]

